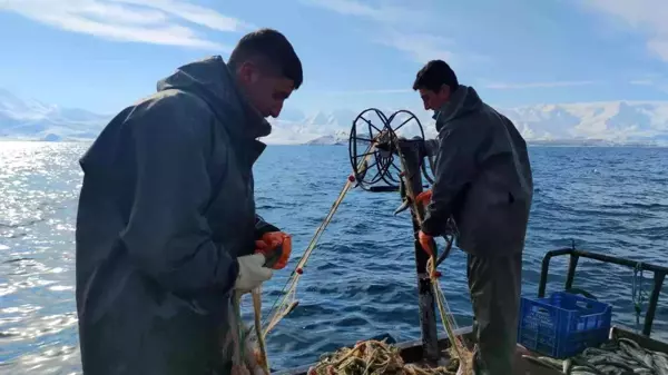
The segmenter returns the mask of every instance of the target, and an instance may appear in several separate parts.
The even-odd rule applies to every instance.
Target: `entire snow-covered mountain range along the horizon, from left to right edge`
[[[668,145],[668,101],[608,101],[540,105],[500,108],[524,138],[537,144],[641,144]],[[393,110],[383,109],[385,116]],[[414,111],[426,137],[434,137],[431,112]],[[360,112],[352,110],[303,114],[286,109],[281,119],[271,119],[272,135],[264,140],[284,145],[347,145],[353,121]],[[33,99],[20,99],[0,89],[0,139],[85,140],[97,137],[111,116],[84,109],[59,108]],[[364,119],[376,127],[381,121],[373,111]],[[402,124],[399,115],[393,125]],[[357,120],[357,131],[369,126]],[[404,125],[400,135],[419,135],[414,121]],[[364,135],[358,135],[364,136]]]

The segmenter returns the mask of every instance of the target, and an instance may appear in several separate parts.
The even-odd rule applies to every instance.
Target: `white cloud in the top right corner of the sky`
[[[668,61],[668,2],[666,0],[587,0],[583,4],[647,34],[647,48]]]

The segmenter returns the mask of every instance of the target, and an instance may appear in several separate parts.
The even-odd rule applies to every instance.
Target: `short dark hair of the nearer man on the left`
[[[291,79],[295,89],[302,86],[302,61],[283,33],[264,28],[245,34],[229,55],[227,65],[236,68],[249,59]]]

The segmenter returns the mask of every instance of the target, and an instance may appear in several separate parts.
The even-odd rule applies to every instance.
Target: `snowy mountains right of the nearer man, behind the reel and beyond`
[[[508,116],[524,138],[533,144],[668,146],[668,101],[558,103],[498,110]],[[386,116],[392,112],[384,110]],[[414,114],[425,136],[435,137],[431,112],[415,110]],[[346,144],[357,115],[352,111],[321,111],[291,124],[298,124],[303,135],[310,135],[307,142]],[[383,124],[375,115],[366,114],[364,117],[376,126]],[[392,124],[402,124],[405,118],[406,115],[400,116]],[[281,121],[276,122],[275,128],[282,127]],[[363,127],[357,128],[357,131],[363,130]],[[414,121],[405,125],[401,132],[409,137],[419,135]],[[279,135],[278,131],[275,140],[281,142]]]

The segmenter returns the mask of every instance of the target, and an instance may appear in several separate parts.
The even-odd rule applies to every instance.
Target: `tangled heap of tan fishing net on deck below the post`
[[[384,341],[358,342],[354,347],[344,347],[333,354],[326,354],[308,369],[308,375],[367,375],[367,374],[409,374],[409,375],[454,375],[459,361],[453,358],[446,366],[425,368],[405,364],[400,349]]]

